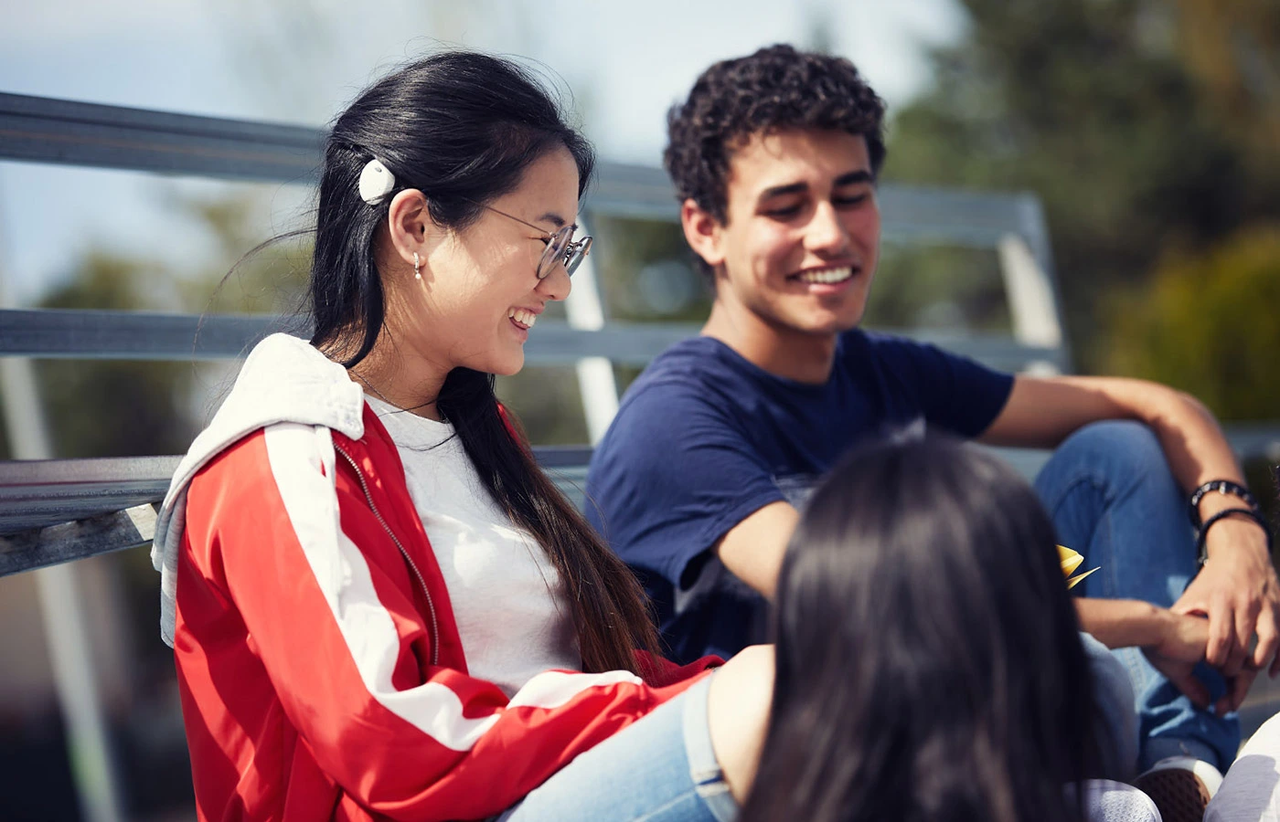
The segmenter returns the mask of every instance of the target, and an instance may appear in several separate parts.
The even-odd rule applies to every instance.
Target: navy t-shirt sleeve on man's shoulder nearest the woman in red
[[[783,500],[733,421],[678,382],[628,396],[591,458],[591,524],[627,564],[676,588],[733,525]]]

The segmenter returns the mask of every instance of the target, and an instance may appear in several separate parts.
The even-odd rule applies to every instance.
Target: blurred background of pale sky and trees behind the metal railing
[[[603,157],[652,166],[667,107],[709,63],[778,41],[837,52],[890,104],[886,180],[1041,198],[1076,371],[1167,382],[1229,422],[1280,418],[1276,0],[0,0],[0,91],[308,125],[425,51],[513,55]],[[0,162],[0,280],[29,307],[292,311],[306,242],[242,257],[305,226],[308,197]],[[672,226],[593,230],[611,316],[705,316]],[[1009,330],[995,252],[887,245],[878,276],[868,325]],[[36,368],[55,450],[77,458],[184,451],[234,373]],[[571,368],[499,390],[535,442],[588,440]],[[1265,461],[1251,476],[1274,496]],[[81,565],[93,612],[111,615],[93,625],[95,665],[129,818],[193,818],[157,578],[145,551]],[[28,577],[0,579],[0,817],[74,819]]]

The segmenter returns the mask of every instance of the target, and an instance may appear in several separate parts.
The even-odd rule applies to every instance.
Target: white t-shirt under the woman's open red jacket
[[[472,676],[509,697],[549,669],[582,669],[559,575],[498,508],[449,423],[365,395],[396,442],[408,492],[444,574]]]

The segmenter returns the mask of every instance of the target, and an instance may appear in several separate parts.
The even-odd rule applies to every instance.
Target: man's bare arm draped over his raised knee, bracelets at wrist
[[[1151,427],[1185,491],[1210,479],[1243,483],[1235,455],[1208,409],[1184,392],[1143,380],[1019,376],[1004,410],[980,438],[991,445],[1052,447],[1089,422],[1124,418]],[[1201,516],[1240,506],[1234,497],[1206,495]],[[1208,532],[1212,561],[1174,605],[1175,611],[1208,616],[1207,660],[1228,676],[1236,676],[1247,662],[1270,665],[1272,676],[1280,671],[1280,585],[1266,547],[1257,524],[1238,518],[1219,523]],[[1100,620],[1115,615],[1096,607],[1082,605],[1085,630],[1111,630]],[[1251,657],[1254,630],[1258,644]]]

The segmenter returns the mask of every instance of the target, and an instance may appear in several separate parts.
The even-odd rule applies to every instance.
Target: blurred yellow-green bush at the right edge
[[[1107,366],[1192,391],[1228,419],[1275,418],[1277,309],[1280,224],[1171,253],[1149,288],[1115,299]]]

